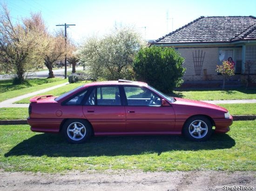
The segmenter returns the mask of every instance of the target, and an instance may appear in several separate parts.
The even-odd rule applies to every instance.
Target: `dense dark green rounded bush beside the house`
[[[142,48],[133,64],[138,81],[146,82],[162,92],[172,92],[182,84],[184,58],[173,48],[157,46]]]

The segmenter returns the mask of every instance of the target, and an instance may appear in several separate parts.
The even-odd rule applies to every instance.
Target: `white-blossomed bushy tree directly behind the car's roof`
[[[102,39],[88,38],[80,48],[81,62],[94,79],[131,79],[132,63],[141,45],[141,37],[133,28],[115,29]]]

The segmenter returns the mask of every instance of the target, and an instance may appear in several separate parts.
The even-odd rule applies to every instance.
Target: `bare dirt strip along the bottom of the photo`
[[[231,186],[256,190],[256,172],[0,172],[0,191],[222,191]]]

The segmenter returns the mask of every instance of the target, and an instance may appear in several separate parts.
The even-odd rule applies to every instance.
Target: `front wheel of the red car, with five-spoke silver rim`
[[[193,141],[208,140],[212,134],[211,121],[204,116],[195,116],[185,122],[182,133]]]

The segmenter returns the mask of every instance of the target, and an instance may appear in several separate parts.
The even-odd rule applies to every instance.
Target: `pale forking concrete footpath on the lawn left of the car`
[[[65,86],[67,84],[68,84],[68,82],[62,83],[62,84],[59,84],[59,85],[56,85],[56,86],[53,86],[53,87],[50,87],[50,88],[41,89],[41,90],[38,90],[38,91],[35,91],[35,92],[32,92],[32,93],[28,93],[28,94],[25,94],[25,95],[22,95],[22,96],[7,99],[3,102],[0,102],[0,108],[28,108],[29,104],[13,104],[13,103],[17,102],[17,101],[20,101],[22,99],[25,99],[27,97],[33,97],[35,95],[42,94],[42,93],[50,91],[52,89],[60,88],[60,87]]]

